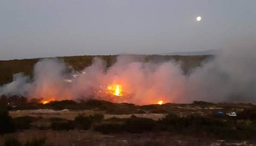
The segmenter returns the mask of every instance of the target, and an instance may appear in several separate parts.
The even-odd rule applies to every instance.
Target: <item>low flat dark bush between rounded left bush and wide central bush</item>
[[[98,132],[102,132],[102,134],[120,133],[121,131],[123,131],[123,124],[105,123],[105,124],[95,125],[94,130]]]

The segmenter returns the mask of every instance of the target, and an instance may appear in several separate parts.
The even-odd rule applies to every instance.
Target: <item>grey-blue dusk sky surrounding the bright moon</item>
[[[0,60],[203,51],[246,36],[256,0],[0,1]]]

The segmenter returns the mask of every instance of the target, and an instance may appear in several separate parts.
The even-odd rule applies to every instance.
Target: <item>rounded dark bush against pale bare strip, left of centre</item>
[[[74,127],[78,129],[88,130],[91,128],[92,120],[89,116],[78,115],[74,120]]]

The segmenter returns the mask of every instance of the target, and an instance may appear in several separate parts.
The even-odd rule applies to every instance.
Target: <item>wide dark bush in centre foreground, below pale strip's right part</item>
[[[130,118],[124,124],[126,131],[131,133],[142,133],[144,131],[152,131],[156,126],[156,122],[147,118]]]

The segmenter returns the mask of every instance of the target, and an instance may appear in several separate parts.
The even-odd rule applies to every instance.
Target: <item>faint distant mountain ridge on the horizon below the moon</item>
[[[163,53],[160,55],[218,55],[221,52],[220,49],[211,49],[206,51],[188,51],[188,52],[173,52]]]

